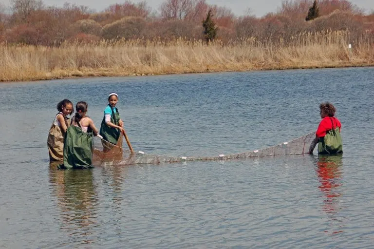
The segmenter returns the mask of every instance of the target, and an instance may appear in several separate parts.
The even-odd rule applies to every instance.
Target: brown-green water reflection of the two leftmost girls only
[[[57,170],[51,163],[50,182],[60,210],[61,229],[68,235],[88,235],[96,223],[97,194],[92,170]],[[90,241],[84,240],[85,243]]]

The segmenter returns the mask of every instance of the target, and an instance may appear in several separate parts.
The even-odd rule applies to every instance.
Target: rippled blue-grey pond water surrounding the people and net
[[[371,248],[373,79],[363,67],[1,83],[0,248]],[[261,149],[316,130],[331,101],[344,153],[56,170],[57,102],[87,101],[99,127],[111,92],[136,151]]]

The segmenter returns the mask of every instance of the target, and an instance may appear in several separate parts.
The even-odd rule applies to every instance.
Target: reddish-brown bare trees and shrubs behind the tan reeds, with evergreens
[[[206,0],[165,0],[158,10],[146,1],[110,5],[101,12],[65,3],[46,6],[42,0],[11,0],[0,5],[0,42],[58,46],[66,41],[141,39],[168,41],[219,40],[223,44],[253,38],[287,42],[302,33],[345,30],[350,42],[374,38],[374,12],[348,0],[284,0],[263,17],[236,16],[231,9]]]

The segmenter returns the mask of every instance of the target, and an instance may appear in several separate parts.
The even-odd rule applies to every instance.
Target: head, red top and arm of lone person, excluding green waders
[[[313,150],[316,147],[320,139],[326,135],[326,133],[332,129],[339,128],[339,133],[341,132],[341,123],[339,119],[335,117],[335,112],[337,109],[330,102],[323,102],[319,105],[319,115],[321,115],[321,122],[318,125],[316,138],[313,140],[309,148],[309,153],[313,154]]]

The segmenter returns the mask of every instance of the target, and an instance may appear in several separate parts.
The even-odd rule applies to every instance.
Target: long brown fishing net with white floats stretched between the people
[[[315,138],[315,132],[303,135],[299,138],[284,142],[272,147],[248,151],[243,153],[216,155],[216,156],[164,156],[152,155],[143,152],[135,152],[122,148],[123,136],[120,136],[116,145],[113,145],[98,137],[93,138],[93,166],[105,165],[130,165],[161,162],[184,162],[206,160],[229,160],[237,158],[253,158],[264,156],[297,155],[306,154],[309,145]]]

